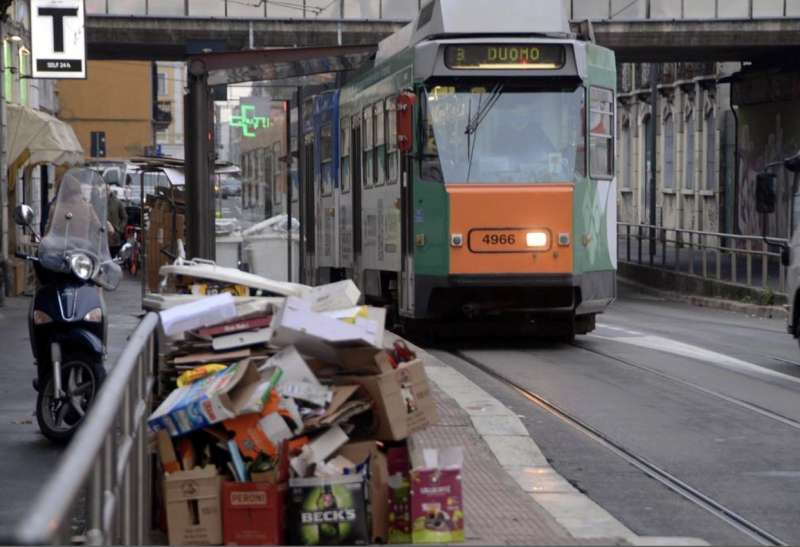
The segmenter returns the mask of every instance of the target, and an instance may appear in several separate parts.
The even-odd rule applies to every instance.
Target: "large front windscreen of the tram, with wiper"
[[[422,177],[452,184],[573,182],[586,169],[580,85],[437,82],[424,91]]]

